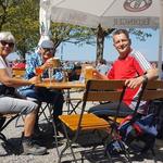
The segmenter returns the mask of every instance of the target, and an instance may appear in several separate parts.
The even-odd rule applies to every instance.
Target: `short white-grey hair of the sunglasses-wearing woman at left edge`
[[[0,32],[0,40],[15,43],[15,38],[11,32]]]

